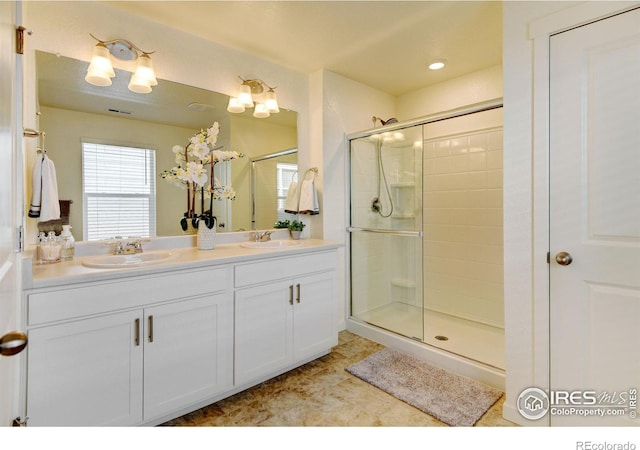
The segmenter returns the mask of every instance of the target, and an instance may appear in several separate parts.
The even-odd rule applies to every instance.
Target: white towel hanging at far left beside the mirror
[[[33,168],[33,195],[29,217],[39,217],[39,222],[60,218],[58,180],[56,167],[46,153],[38,158]]]

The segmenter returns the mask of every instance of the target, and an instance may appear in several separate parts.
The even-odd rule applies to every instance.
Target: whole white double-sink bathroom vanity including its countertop
[[[327,354],[338,246],[230,243],[134,268],[33,266],[23,417],[155,425]]]

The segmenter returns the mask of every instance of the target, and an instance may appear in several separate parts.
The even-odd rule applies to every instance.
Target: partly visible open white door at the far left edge
[[[20,91],[14,83],[19,73],[15,52],[17,8],[15,2],[0,2],[0,426],[8,426],[18,416],[18,367],[14,353],[20,291],[17,283],[20,264],[15,253],[16,232],[22,204],[19,176],[18,139],[21,126],[17,111]],[[16,122],[18,120],[18,122]]]

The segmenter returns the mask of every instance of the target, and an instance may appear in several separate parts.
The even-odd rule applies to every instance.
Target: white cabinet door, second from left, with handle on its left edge
[[[219,293],[144,310],[145,421],[232,387],[232,305]]]

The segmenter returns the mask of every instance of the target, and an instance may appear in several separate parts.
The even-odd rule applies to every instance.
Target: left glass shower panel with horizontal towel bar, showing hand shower
[[[422,340],[422,126],[349,147],[351,317]]]

